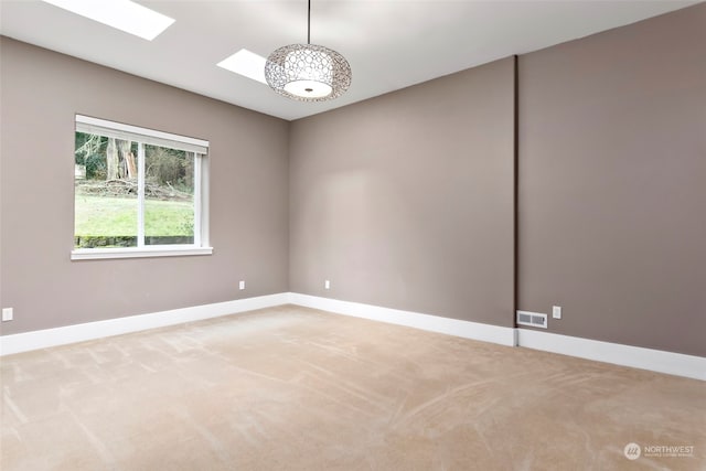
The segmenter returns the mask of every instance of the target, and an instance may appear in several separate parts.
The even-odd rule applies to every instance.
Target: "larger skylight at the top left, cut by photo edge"
[[[173,18],[130,0],[43,1],[148,41],[152,41],[174,22]]]

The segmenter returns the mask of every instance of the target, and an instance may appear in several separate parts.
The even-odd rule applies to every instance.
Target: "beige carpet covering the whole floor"
[[[0,362],[2,471],[706,469],[704,382],[304,308]]]

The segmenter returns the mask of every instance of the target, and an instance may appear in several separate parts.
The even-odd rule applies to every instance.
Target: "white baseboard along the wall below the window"
[[[66,345],[68,343],[84,342],[87,340],[120,335],[129,332],[200,321],[221,315],[252,311],[255,309],[270,308],[274,306],[286,304],[288,301],[289,293],[282,292],[278,295],[238,299],[235,301],[173,309],[150,314],[129,315],[126,318],[66,325],[56,329],[2,335],[0,336],[0,355],[10,355],[12,353],[28,352],[30,350]]]

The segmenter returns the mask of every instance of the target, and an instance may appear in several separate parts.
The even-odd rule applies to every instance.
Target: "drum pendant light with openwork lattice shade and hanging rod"
[[[311,0],[307,14],[307,44],[290,44],[272,52],[265,63],[267,84],[299,101],[338,98],[351,85],[351,65],[338,52],[311,44]]]

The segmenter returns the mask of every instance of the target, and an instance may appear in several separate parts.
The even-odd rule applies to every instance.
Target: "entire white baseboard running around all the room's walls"
[[[338,314],[406,325],[464,339],[480,340],[507,346],[517,345],[706,381],[706,358],[702,356],[684,355],[681,353],[580,339],[528,329],[513,329],[461,321],[458,319],[381,308],[359,302],[340,301],[296,292],[281,292],[235,301],[173,309],[150,314],[130,315],[127,318],[67,325],[56,329],[2,335],[0,336],[0,355],[139,332],[287,303],[321,309]]]

